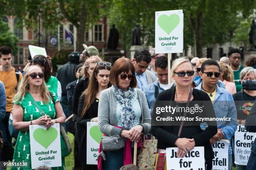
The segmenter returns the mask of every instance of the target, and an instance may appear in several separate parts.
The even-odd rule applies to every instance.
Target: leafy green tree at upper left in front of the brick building
[[[82,51],[85,26],[99,20],[100,0],[0,0],[0,15],[16,15],[27,28],[37,28],[38,16],[46,31],[67,20],[77,28],[77,51]],[[1,9],[1,7],[0,7]],[[88,23],[87,23],[88,22]]]

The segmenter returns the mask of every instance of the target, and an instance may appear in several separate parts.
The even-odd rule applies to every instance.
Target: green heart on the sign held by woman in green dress
[[[50,127],[48,130],[38,128],[34,130],[33,137],[40,145],[42,145],[45,149],[47,149],[52,142],[57,138],[58,131]]]

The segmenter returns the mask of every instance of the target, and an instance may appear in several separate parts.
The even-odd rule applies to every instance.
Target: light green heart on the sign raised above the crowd
[[[160,15],[158,25],[169,35],[174,28],[179,25],[179,15],[172,14],[169,17],[167,15]]]

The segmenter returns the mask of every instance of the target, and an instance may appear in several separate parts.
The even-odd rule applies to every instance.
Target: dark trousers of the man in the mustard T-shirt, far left
[[[3,133],[3,150],[0,152],[0,161],[12,161],[14,149],[12,147],[12,137],[8,129],[10,112],[6,112],[3,120],[0,121],[0,130]]]

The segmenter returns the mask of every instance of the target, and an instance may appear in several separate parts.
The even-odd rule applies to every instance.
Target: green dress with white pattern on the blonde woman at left
[[[49,115],[51,119],[56,119],[56,112],[54,103],[59,101],[57,95],[51,91],[51,94],[53,96],[54,102],[52,101],[50,97],[50,102],[48,104],[44,104],[43,101],[36,101],[38,106],[45,112],[45,114]],[[26,93],[23,100],[18,101],[16,104],[20,105],[23,109],[23,121],[28,122],[31,120],[38,119],[41,117],[40,112],[35,107],[31,99],[32,96],[29,92]],[[14,101],[13,101],[14,103]],[[61,136],[61,167],[52,167],[53,170],[65,170],[65,158],[62,156],[63,154],[67,153],[67,147],[64,143],[63,137]],[[11,170],[31,170],[31,155],[30,155],[30,139],[29,139],[29,130],[26,132],[19,132],[14,155],[13,155],[13,161],[18,162],[28,162],[27,167],[12,167]]]

